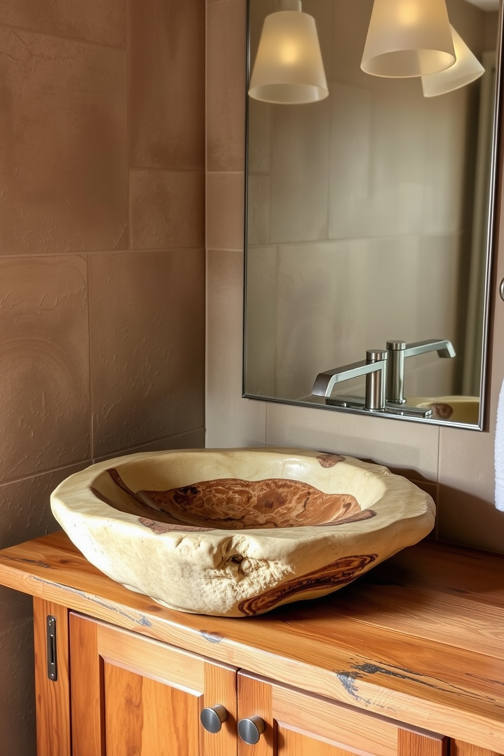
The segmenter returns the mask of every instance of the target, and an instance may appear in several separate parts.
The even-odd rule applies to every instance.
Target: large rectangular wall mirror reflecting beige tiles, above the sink
[[[447,0],[485,71],[434,97],[419,77],[360,69],[372,8],[303,0],[329,96],[248,98],[243,393],[482,429],[499,2]],[[249,0],[251,64],[277,10],[276,0]],[[348,369],[368,350],[385,353],[382,367]]]

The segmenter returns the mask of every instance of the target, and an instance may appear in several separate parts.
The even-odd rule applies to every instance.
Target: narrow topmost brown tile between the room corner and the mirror
[[[207,167],[245,166],[246,0],[207,9]]]

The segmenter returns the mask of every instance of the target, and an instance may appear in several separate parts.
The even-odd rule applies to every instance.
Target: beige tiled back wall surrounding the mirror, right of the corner
[[[223,174],[244,166],[246,2],[208,0],[207,14],[207,206],[208,228],[215,229],[238,204],[236,194],[230,200],[224,191]],[[433,495],[441,538],[504,552],[504,513],[493,507],[493,437],[504,376],[504,305],[495,291],[486,432],[252,401],[241,398],[243,246],[235,237],[224,249],[207,239],[207,445],[292,445],[385,463]],[[504,277],[502,245],[496,280]],[[264,332],[267,342],[266,324]]]

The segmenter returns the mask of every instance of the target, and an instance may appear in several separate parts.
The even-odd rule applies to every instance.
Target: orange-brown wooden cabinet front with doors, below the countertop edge
[[[35,600],[39,756],[499,756]],[[57,624],[47,671],[47,617]],[[218,733],[203,708],[224,707]],[[240,720],[264,730],[255,743]]]

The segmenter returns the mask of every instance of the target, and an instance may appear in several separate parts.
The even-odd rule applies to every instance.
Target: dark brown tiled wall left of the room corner
[[[204,39],[203,0],[0,4],[0,547],[93,460],[204,443]],[[0,606],[0,751],[34,756]]]

